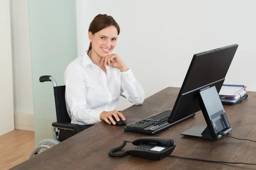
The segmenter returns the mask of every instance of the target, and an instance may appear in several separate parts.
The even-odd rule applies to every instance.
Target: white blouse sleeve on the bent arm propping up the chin
[[[121,91],[120,96],[125,97],[129,102],[135,105],[141,105],[145,99],[145,93],[140,82],[129,69],[121,72]]]

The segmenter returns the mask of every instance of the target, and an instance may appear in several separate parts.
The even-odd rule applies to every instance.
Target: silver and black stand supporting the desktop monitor
[[[230,123],[215,86],[201,89],[198,97],[207,127],[196,125],[181,134],[184,136],[216,140],[221,138],[218,131],[225,134],[229,133],[232,128],[230,127]]]

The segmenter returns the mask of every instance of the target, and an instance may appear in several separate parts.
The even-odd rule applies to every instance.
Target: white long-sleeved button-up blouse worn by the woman
[[[115,110],[120,96],[135,105],[143,103],[145,93],[131,69],[121,72],[108,65],[105,67],[107,74],[87,54],[67,66],[65,98],[71,123],[92,125],[101,122],[100,113]]]

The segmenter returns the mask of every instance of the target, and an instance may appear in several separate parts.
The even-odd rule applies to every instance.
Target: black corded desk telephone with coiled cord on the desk
[[[126,142],[128,141],[124,141],[120,147],[111,149],[108,154],[113,157],[121,157],[130,154],[131,156],[158,161],[170,155],[176,146],[174,145],[174,140],[172,139],[160,137],[141,137],[131,142],[132,144],[136,145],[136,147],[133,149],[124,153],[113,153],[125,147]]]

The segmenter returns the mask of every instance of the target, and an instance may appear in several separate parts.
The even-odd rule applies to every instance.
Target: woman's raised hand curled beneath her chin
[[[110,54],[105,58],[102,58],[101,62],[104,62],[104,66],[118,68],[120,71],[128,71],[127,65],[122,61],[122,59],[117,54]]]

